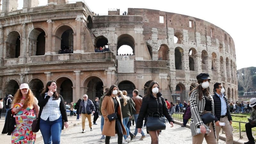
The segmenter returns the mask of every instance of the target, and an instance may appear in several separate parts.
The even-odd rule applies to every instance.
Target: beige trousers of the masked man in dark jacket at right
[[[222,128],[222,130],[225,132],[225,135],[226,135],[226,144],[233,144],[233,127],[232,125],[230,125],[228,121],[228,116],[220,118],[220,122],[225,123],[225,126],[215,125],[217,141],[219,141],[219,133]]]

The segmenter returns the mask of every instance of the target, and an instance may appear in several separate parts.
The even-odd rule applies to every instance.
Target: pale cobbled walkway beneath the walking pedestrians
[[[81,118],[79,121],[76,121],[76,116],[68,117],[69,127],[68,129],[64,128],[61,133],[61,144],[70,144],[70,143],[95,143],[95,144],[104,144],[105,142],[99,141],[101,137],[101,130],[100,130],[100,117],[97,120],[98,125],[92,125],[92,130],[90,131],[88,126],[88,121],[86,120],[85,123],[85,133],[82,132],[81,126]],[[0,130],[2,131],[4,127],[4,119],[0,119]],[[134,132],[135,125],[131,126],[131,132]],[[223,134],[222,134],[223,135]],[[141,134],[139,133],[135,139],[129,141],[130,144],[150,144],[151,139],[149,134],[146,134],[146,138],[144,140],[139,140]],[[224,135],[225,136],[225,135]],[[235,140],[235,139],[234,139]],[[11,142],[11,136],[6,134],[0,135],[1,143],[9,144]],[[246,140],[236,140],[238,143],[242,144]],[[111,144],[117,143],[117,136],[111,137],[110,139]],[[160,144],[181,144],[181,143],[192,143],[192,136],[191,131],[189,128],[180,127],[180,122],[175,122],[174,127],[170,127],[170,124],[166,125],[166,130],[162,131],[162,134],[159,135],[159,143]],[[234,142],[236,143],[236,142]],[[42,135],[37,132],[36,144],[44,144],[42,139]],[[203,144],[206,144],[205,140]],[[219,144],[225,144],[225,141],[219,140]]]

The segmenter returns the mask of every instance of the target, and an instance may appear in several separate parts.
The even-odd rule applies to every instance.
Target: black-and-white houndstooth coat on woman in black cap
[[[214,115],[214,103],[212,96],[209,95],[211,103],[212,103],[212,113]],[[210,129],[208,125],[205,125],[201,119],[201,115],[204,112],[204,106],[205,106],[205,99],[204,96],[202,96],[202,100],[199,100],[199,91],[197,89],[193,90],[191,95],[190,95],[190,110],[191,110],[191,133],[192,136],[195,136],[199,133],[196,133],[196,128],[199,127],[200,125],[204,125],[206,129]],[[215,123],[213,122],[213,130],[216,138],[216,133],[215,133]]]

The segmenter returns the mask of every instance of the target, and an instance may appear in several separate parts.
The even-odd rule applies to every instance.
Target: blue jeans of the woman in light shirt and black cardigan
[[[50,121],[49,117],[45,121],[40,119],[40,131],[42,133],[44,144],[60,144],[60,134],[62,128],[62,116],[55,120]]]

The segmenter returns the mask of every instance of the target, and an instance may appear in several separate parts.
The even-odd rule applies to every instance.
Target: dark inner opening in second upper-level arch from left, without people
[[[41,32],[37,37],[36,55],[44,55],[45,53],[45,32]]]

